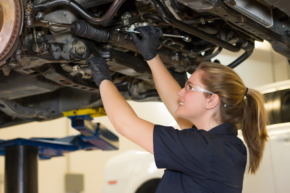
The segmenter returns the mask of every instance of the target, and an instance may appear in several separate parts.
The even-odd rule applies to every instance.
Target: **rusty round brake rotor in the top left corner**
[[[19,0],[0,0],[0,60],[12,49],[21,28]]]

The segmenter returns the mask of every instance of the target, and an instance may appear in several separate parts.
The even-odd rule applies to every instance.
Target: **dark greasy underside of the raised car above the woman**
[[[231,68],[255,41],[290,59],[289,16],[287,0],[0,0],[0,128],[102,106],[85,64],[93,56],[125,99],[161,101],[130,37],[136,27],[163,30],[158,54],[184,86],[222,49],[244,50]]]

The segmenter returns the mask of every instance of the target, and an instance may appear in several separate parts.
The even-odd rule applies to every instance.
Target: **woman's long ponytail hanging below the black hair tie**
[[[245,99],[245,113],[241,131],[248,145],[250,166],[248,172],[255,174],[263,157],[265,142],[268,134],[266,130],[267,113],[264,106],[264,96],[253,89],[249,89]]]

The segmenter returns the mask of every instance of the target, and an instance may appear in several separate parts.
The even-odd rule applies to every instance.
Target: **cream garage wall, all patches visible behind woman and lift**
[[[216,57],[223,64],[231,63],[243,51],[232,53],[223,50]],[[245,85],[254,88],[268,83],[290,79],[290,67],[286,58],[272,51],[268,43],[256,45],[253,54],[244,63],[235,68]],[[155,124],[169,125],[174,122],[161,102],[129,101],[137,115]],[[95,118],[118,135],[107,117]],[[1,139],[52,137],[62,138],[78,134],[70,127],[67,118],[28,123],[20,126],[0,129]],[[118,135],[119,136],[119,135]],[[128,149],[143,150],[138,145],[119,136],[120,149],[116,151],[76,151],[63,157],[39,161],[39,193],[64,193],[64,175],[66,173],[84,175],[83,193],[102,193],[104,165],[108,159]],[[3,193],[4,157],[0,157],[0,193]]]

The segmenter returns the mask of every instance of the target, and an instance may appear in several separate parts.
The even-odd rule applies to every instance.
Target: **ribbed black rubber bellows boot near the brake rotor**
[[[71,32],[77,36],[97,42],[108,42],[111,39],[112,33],[104,26],[83,20],[74,21],[73,24],[74,27],[71,28]]]

